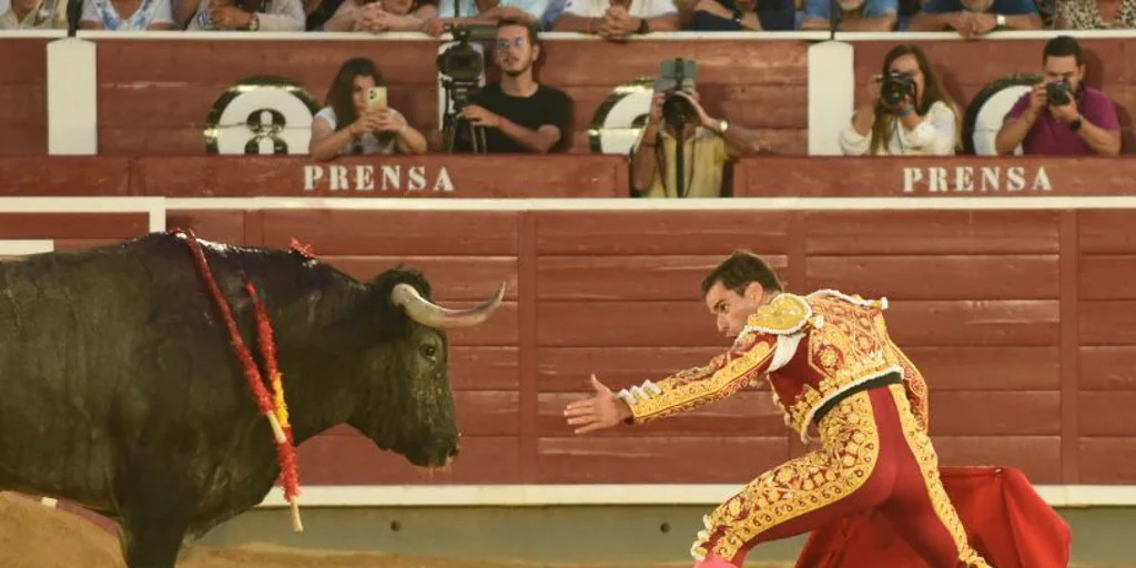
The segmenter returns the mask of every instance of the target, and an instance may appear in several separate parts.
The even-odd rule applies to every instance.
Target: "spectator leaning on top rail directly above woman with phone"
[[[327,32],[421,32],[442,35],[437,0],[343,0],[324,24]]]

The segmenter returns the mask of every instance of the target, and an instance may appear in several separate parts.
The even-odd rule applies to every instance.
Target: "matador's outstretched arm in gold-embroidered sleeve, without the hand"
[[[633,424],[694,410],[730,396],[760,378],[772,361],[776,345],[776,339],[769,335],[744,333],[729,351],[709,365],[624,389],[617,396],[630,409]]]

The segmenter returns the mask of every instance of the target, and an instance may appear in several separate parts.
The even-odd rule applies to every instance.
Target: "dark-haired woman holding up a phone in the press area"
[[[308,153],[327,161],[360,153],[425,153],[426,137],[398,110],[367,108],[367,91],[383,84],[383,75],[366,58],[346,60],[327,90],[327,106],[311,123]]]

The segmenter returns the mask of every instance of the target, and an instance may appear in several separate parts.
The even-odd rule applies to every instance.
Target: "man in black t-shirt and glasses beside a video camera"
[[[535,25],[516,19],[498,24],[493,58],[501,68],[501,83],[485,85],[460,115],[484,132],[485,152],[545,153],[563,151],[571,143],[573,101],[533,78],[540,55]],[[453,151],[473,150],[467,136],[456,136]]]

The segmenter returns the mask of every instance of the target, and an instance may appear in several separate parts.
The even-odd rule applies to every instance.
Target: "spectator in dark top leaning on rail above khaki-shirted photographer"
[[[687,30],[741,32],[762,30],[792,32],[796,28],[793,0],[698,0]]]

